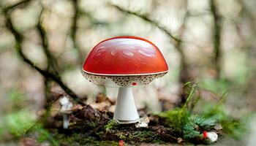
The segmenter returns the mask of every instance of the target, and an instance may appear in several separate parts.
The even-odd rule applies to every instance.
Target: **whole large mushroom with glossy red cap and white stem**
[[[140,37],[113,37],[99,42],[83,64],[83,76],[90,82],[118,87],[114,120],[139,120],[132,86],[148,85],[168,72],[165,58],[156,45]]]

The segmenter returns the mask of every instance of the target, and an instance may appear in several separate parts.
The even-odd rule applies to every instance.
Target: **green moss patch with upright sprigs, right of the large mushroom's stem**
[[[235,138],[241,137],[241,134],[245,131],[244,126],[246,126],[246,124],[241,124],[241,120],[232,118],[225,112],[222,103],[227,92],[221,96],[217,104],[203,104],[201,107],[203,112],[200,113],[200,115],[195,115],[189,111],[188,105],[194,97],[196,85],[191,82],[188,82],[187,85],[190,91],[188,92],[189,96],[183,107],[158,113],[160,117],[167,119],[167,126],[173,127],[176,133],[181,134],[179,137],[195,139],[200,137],[203,131],[215,130],[214,126],[220,123],[223,127],[222,130],[227,134]]]

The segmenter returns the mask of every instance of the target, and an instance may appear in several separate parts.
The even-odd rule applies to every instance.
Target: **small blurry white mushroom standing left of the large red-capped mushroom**
[[[73,104],[71,101],[69,101],[69,98],[67,96],[63,96],[59,103],[61,104],[61,109],[59,112],[61,113],[63,117],[63,128],[68,128],[69,126],[69,114],[72,113],[72,107]]]

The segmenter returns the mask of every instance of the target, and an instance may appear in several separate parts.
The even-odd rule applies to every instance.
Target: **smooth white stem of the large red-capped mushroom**
[[[114,120],[118,123],[136,123],[139,120],[137,108],[132,95],[132,87],[118,89]]]

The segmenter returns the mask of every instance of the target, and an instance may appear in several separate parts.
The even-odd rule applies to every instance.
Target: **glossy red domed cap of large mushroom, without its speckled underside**
[[[83,64],[83,72],[99,75],[157,74],[167,72],[156,45],[140,37],[113,37],[99,42]]]

